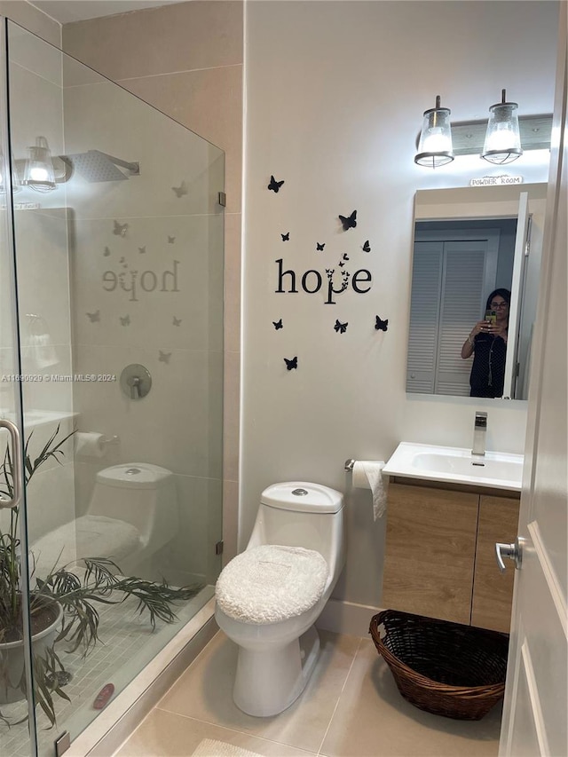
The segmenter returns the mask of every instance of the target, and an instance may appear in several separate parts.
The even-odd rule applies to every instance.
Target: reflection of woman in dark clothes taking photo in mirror
[[[465,360],[473,355],[470,397],[502,397],[509,328],[509,289],[495,289],[487,297],[485,320],[471,329],[461,347]]]

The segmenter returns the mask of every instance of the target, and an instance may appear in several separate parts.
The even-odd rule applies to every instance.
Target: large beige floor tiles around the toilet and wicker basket
[[[320,631],[312,680],[284,713],[254,718],[233,704],[237,650],[207,645],[114,757],[188,757],[216,739],[264,757],[494,757],[501,706],[479,722],[424,713],[400,697],[373,642]]]

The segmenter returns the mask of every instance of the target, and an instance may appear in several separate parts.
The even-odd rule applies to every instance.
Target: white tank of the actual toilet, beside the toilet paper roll
[[[345,562],[343,494],[328,486],[287,481],[264,489],[248,547],[280,544],[315,549],[331,572]]]

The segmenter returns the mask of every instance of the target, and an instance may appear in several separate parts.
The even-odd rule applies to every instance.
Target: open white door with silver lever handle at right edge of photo
[[[566,4],[561,3],[559,69],[547,198],[543,276],[533,359],[521,497],[509,670],[501,757],[565,757],[568,619]],[[559,140],[554,146],[555,132]],[[512,567],[512,564],[511,564]],[[509,568],[508,568],[509,569]]]

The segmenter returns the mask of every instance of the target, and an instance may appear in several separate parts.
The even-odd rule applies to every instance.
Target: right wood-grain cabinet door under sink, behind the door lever
[[[514,564],[504,573],[495,560],[495,542],[508,544],[517,538],[519,500],[487,497],[479,502],[476,570],[473,580],[471,625],[509,633],[513,602]]]

